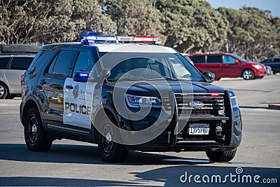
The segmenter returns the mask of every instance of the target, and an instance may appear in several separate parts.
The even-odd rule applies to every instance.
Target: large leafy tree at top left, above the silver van
[[[2,43],[78,41],[83,34],[116,34],[116,24],[98,1],[0,0]]]

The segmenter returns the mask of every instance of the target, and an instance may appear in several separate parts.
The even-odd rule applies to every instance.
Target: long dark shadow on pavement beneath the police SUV
[[[25,144],[0,144],[0,151],[0,160],[107,165],[99,157],[97,146],[54,144],[48,152],[31,152]],[[210,160],[130,151],[125,162],[110,163],[110,165],[200,165],[207,163],[210,163]]]

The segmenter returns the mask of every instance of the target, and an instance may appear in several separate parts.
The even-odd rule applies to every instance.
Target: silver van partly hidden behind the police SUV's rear
[[[0,55],[0,99],[21,93],[20,76],[25,73],[35,55]]]

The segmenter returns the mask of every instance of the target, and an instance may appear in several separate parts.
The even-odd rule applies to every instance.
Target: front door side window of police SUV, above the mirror
[[[78,54],[78,58],[76,60],[76,64],[74,67],[73,73],[75,74],[76,71],[92,71],[94,67],[94,62],[92,60],[92,56],[88,51],[80,51]]]

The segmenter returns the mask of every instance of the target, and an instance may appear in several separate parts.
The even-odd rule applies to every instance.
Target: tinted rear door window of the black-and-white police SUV
[[[48,73],[69,76],[69,69],[75,54],[75,50],[61,50],[55,59],[52,60],[52,64],[50,64]]]

